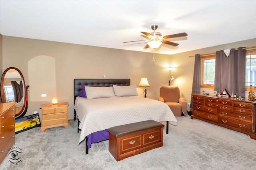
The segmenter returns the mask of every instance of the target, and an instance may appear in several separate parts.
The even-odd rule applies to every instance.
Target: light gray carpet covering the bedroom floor
[[[255,170],[256,140],[190,116],[176,117],[178,125],[164,129],[164,146],[116,161],[108,140],[78,146],[77,121],[68,129],[56,127],[40,133],[40,127],[16,134],[14,147],[22,149],[20,162],[6,156],[0,170]]]

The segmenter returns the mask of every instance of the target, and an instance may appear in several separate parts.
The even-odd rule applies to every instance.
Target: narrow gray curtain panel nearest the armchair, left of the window
[[[194,64],[192,94],[201,93],[200,89],[201,89],[201,61],[200,61],[200,54],[196,54],[195,64]],[[192,109],[193,109],[193,99],[192,99],[192,96],[191,96],[190,110],[192,110]]]

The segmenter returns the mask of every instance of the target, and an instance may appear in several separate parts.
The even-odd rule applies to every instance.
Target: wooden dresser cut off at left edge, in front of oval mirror
[[[15,143],[15,103],[0,104],[0,164]]]

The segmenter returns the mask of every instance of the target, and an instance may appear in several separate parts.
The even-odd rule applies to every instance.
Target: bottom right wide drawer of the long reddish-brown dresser
[[[238,128],[243,131],[252,132],[252,124],[246,123],[244,121],[238,121],[238,120],[229,119],[223,116],[218,116],[218,123],[221,123],[223,125],[228,125],[234,128]]]

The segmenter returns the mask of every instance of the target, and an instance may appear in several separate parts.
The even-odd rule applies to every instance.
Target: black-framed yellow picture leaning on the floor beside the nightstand
[[[38,113],[21,117],[15,120],[15,134],[40,126],[41,122]]]

